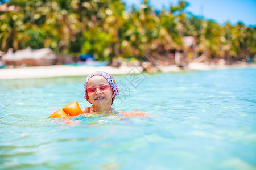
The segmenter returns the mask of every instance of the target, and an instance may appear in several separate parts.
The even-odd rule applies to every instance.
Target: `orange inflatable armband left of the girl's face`
[[[49,118],[77,116],[83,113],[84,112],[82,112],[77,101],[74,101],[72,103],[65,105],[62,109],[59,109],[56,112],[52,113],[51,116],[49,116]]]

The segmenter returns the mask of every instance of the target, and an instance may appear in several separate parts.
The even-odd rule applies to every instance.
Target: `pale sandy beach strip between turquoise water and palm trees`
[[[204,63],[192,63],[185,68],[176,65],[159,66],[158,70],[163,73],[180,72],[180,71],[200,71],[200,70],[216,70],[216,69],[233,69],[256,67],[255,64],[233,64],[233,65],[205,65]],[[0,80],[10,79],[29,79],[29,78],[54,78],[61,76],[85,76],[94,71],[106,71],[109,74],[134,74],[143,71],[142,66],[121,66],[119,68],[111,66],[69,66],[69,65],[53,65],[53,66],[34,66],[20,68],[4,68],[0,69]],[[156,70],[157,71],[157,70]],[[156,72],[152,71],[152,72]]]

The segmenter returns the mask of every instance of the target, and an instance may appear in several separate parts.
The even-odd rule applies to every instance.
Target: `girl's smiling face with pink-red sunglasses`
[[[103,76],[95,75],[87,83],[88,101],[96,107],[111,106],[114,93],[108,80]]]

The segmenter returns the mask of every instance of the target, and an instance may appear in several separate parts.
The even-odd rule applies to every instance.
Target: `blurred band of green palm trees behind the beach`
[[[1,1],[2,3],[4,1]],[[141,59],[151,52],[168,56],[184,51],[183,37],[195,37],[197,56],[251,61],[256,54],[255,26],[220,25],[188,14],[186,1],[154,10],[148,0],[127,7],[121,0],[10,0],[15,10],[0,11],[0,50],[51,48],[57,54],[94,54],[98,60]]]

